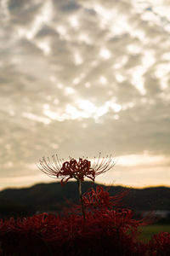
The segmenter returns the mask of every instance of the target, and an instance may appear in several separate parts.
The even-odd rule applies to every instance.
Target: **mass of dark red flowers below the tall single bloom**
[[[0,255],[170,255],[169,233],[154,236],[148,244],[138,241],[138,227],[147,222],[135,220],[129,209],[117,208],[126,193],[110,196],[101,186],[90,189],[82,196],[86,220],[76,206],[61,215],[1,219]]]

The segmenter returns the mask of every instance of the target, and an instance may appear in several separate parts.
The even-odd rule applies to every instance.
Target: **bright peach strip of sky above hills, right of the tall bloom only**
[[[163,155],[133,154],[116,157],[113,172],[97,177],[96,183],[130,187],[169,186],[169,158]],[[156,163],[156,164],[155,164]],[[131,165],[132,164],[132,165]]]

